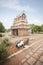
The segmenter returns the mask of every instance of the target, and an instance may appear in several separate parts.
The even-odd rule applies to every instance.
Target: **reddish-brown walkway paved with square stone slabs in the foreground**
[[[11,57],[3,65],[43,65],[43,37],[30,48]]]

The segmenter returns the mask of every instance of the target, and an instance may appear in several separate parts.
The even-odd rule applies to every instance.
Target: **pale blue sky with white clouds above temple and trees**
[[[0,0],[0,21],[8,29],[23,10],[29,24],[43,24],[43,0]]]

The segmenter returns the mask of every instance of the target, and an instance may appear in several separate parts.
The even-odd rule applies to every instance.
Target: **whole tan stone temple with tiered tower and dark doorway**
[[[14,19],[13,26],[11,27],[14,36],[28,36],[29,25],[25,13],[18,15]]]

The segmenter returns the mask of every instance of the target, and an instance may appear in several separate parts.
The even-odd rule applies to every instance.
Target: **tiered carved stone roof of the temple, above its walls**
[[[13,26],[11,28],[12,29],[18,29],[18,28],[27,28],[27,29],[29,29],[29,24],[27,22],[25,13],[22,13],[22,14],[18,15],[14,19],[14,23],[13,23]]]

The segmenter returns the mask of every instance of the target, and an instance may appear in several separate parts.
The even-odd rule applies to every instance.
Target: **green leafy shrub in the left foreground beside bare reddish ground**
[[[4,60],[8,54],[7,54],[7,48],[8,48],[8,39],[3,39],[2,43],[0,44],[0,61]]]

